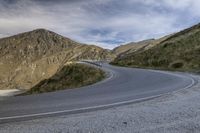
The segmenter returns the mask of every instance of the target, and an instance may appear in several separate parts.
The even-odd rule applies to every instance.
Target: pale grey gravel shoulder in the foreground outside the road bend
[[[199,76],[193,75],[198,81]],[[0,133],[199,133],[200,82],[150,101],[0,125]]]

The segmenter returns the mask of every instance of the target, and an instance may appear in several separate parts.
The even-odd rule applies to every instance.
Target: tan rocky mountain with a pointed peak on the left
[[[0,89],[30,89],[71,61],[112,59],[103,48],[45,29],[0,39]]]

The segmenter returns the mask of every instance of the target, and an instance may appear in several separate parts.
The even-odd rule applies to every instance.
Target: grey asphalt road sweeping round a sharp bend
[[[10,97],[0,101],[0,123],[44,116],[80,113],[158,97],[189,88],[187,74],[123,68],[103,64],[111,76],[97,84],[72,90]]]

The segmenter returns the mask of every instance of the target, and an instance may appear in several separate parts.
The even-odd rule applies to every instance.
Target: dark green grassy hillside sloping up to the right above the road
[[[168,36],[143,51],[118,56],[112,64],[130,67],[199,71],[200,24]]]

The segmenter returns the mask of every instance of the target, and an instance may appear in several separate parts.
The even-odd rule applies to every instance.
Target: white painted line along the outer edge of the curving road
[[[154,71],[154,70],[151,70],[151,71]],[[162,72],[162,71],[154,71],[154,72],[168,73],[170,75],[180,76],[178,74],[173,74],[173,73],[170,73],[170,72]],[[184,77],[186,77],[186,76],[184,76]],[[11,120],[11,119],[29,118],[29,117],[37,117],[37,116],[40,117],[40,116],[45,116],[45,115],[55,115],[55,114],[69,113],[69,112],[75,112],[75,111],[84,111],[84,110],[91,110],[91,109],[98,109],[98,108],[106,108],[106,107],[111,107],[111,106],[117,106],[117,105],[123,105],[123,104],[129,104],[129,103],[139,102],[139,101],[143,101],[143,100],[153,99],[153,98],[156,98],[156,97],[164,96],[164,95],[167,95],[167,94],[171,94],[173,92],[178,92],[180,90],[184,90],[184,89],[188,89],[188,88],[192,87],[195,84],[195,81],[192,77],[190,77],[190,79],[191,79],[192,83],[190,85],[186,86],[185,88],[178,89],[178,90],[172,91],[172,92],[167,92],[167,93],[164,93],[164,94],[155,95],[155,96],[139,98],[139,99],[123,101],[123,102],[117,102],[117,103],[112,103],[112,104],[105,104],[105,105],[98,105],[98,106],[85,107],[85,108],[79,108],[79,109],[72,109],[72,110],[62,110],[62,111],[37,113],[37,114],[30,114],[30,115],[2,117],[2,118],[0,118],[0,120]]]

